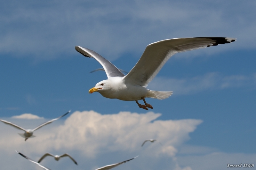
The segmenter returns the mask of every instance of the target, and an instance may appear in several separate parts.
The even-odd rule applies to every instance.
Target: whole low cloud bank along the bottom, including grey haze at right
[[[160,115],[153,112],[101,115],[94,111],[76,111],[65,122],[56,121],[39,129],[35,132],[36,137],[26,142],[17,134],[17,129],[1,123],[1,168],[40,170],[40,167],[22,158],[14,150],[34,160],[38,160],[45,152],[59,155],[67,152],[78,162],[76,166],[68,158],[58,162],[50,157],[45,158],[42,164],[53,170],[94,170],[137,155],[140,156],[115,169],[224,170],[228,163],[254,163],[256,159],[256,154],[224,153],[215,148],[186,145],[184,142],[189,139],[189,133],[202,121],[159,120],[157,118]],[[18,124],[22,126],[38,123],[35,122],[37,120],[15,120],[20,121]],[[158,139],[163,146],[157,142],[148,142],[140,147],[149,138]]]

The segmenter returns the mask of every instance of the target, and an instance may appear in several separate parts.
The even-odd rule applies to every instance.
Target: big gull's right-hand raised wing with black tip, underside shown
[[[236,41],[235,38],[174,38],[149,44],[138,63],[124,77],[125,82],[146,87],[174,54]]]

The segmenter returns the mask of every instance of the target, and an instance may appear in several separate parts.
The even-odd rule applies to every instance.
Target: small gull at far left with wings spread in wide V
[[[44,125],[47,125],[47,124],[49,124],[49,123],[52,123],[53,121],[56,121],[56,120],[60,119],[61,117],[67,115],[70,111],[71,111],[71,110],[69,110],[67,113],[65,113],[64,115],[62,115],[62,116],[60,116],[60,117],[57,117],[57,118],[55,118],[55,119],[52,119],[52,120],[50,120],[50,121],[48,121],[48,122],[45,122],[45,123],[43,123],[43,124],[37,126],[35,129],[24,129],[24,128],[22,128],[22,127],[20,127],[20,126],[18,126],[18,125],[16,125],[16,124],[14,124],[14,123],[12,123],[12,122],[8,122],[8,121],[2,120],[2,119],[0,119],[0,121],[6,123],[6,124],[8,124],[8,125],[13,126],[14,128],[17,128],[17,129],[20,129],[20,130],[24,130],[25,133],[19,133],[19,135],[20,135],[21,137],[24,137],[24,138],[25,138],[25,141],[26,141],[29,137],[36,137],[36,136],[33,135],[33,132],[34,132],[35,130],[37,130],[37,129],[39,129],[39,128],[42,128]]]

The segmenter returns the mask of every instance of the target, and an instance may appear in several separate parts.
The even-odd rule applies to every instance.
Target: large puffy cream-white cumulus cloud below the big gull
[[[104,166],[105,163],[106,165],[116,163],[140,155],[136,158],[140,159],[138,162],[127,164],[124,169],[134,169],[136,166],[140,169],[156,169],[163,161],[167,161],[160,169],[190,170],[189,166],[178,165],[177,148],[189,139],[189,133],[193,132],[202,121],[158,120],[160,115],[153,112],[101,115],[94,111],[76,111],[64,124],[39,129],[35,132],[36,137],[28,139],[27,142],[13,132],[14,128],[12,133],[9,133],[10,127],[2,123],[0,127],[2,129],[8,127],[8,130],[4,130],[2,134],[5,138],[0,139],[0,150],[2,153],[10,154],[8,158],[3,159],[13,159],[14,148],[34,159],[39,159],[45,152],[58,151],[62,154],[65,151],[75,155],[80,166],[91,166],[92,169],[96,166]],[[142,142],[150,138],[158,139],[163,146],[158,143],[146,143],[141,148]],[[4,161],[3,159],[0,160]],[[28,167],[28,164],[25,164],[27,160],[23,161],[24,165],[22,163],[21,167]],[[152,162],[148,164],[148,161]],[[50,168],[53,164],[51,162],[47,164],[47,161],[44,163]],[[81,169],[84,169],[82,167]],[[62,167],[62,169],[68,168],[70,167]]]

